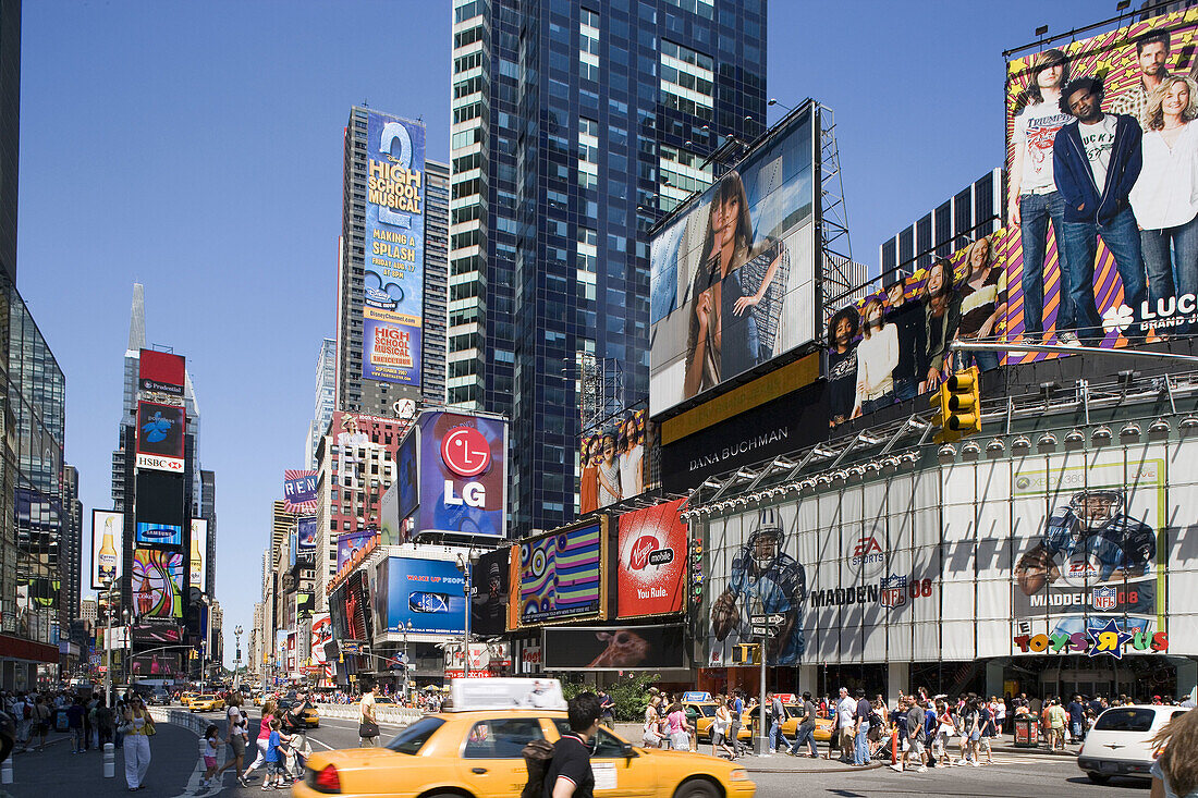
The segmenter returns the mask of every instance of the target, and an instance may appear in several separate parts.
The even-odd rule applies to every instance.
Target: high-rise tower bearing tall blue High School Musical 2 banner
[[[371,141],[371,129],[380,140]],[[386,144],[383,135],[389,137]],[[394,416],[393,405],[401,398],[444,404],[449,167],[424,159],[423,135],[422,122],[373,108],[350,109],[338,277],[337,410]],[[380,155],[371,158],[370,152]],[[395,165],[401,167],[403,181],[389,171]],[[417,185],[409,185],[410,180]],[[380,188],[380,182],[391,188],[403,182],[401,188],[410,189],[412,197],[398,194],[395,207],[401,212],[389,210],[386,200],[397,194]],[[397,216],[405,217],[403,224],[389,224]],[[413,284],[418,296],[409,294]],[[364,308],[369,308],[369,324]],[[403,320],[405,315],[419,321]],[[380,365],[364,353],[380,349],[381,338],[375,335],[383,333],[404,338],[401,351],[391,352]],[[418,367],[397,376],[417,358]],[[311,440],[326,431],[317,430]]]

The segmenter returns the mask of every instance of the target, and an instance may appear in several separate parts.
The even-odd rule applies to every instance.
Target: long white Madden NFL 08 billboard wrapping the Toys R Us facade
[[[755,623],[775,665],[1198,652],[1194,457],[954,464],[712,520],[706,665]]]

